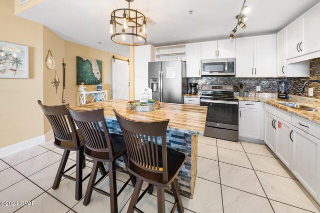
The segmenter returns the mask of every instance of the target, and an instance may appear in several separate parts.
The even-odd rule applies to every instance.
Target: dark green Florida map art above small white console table
[[[102,83],[102,61],[76,56],[76,85]]]

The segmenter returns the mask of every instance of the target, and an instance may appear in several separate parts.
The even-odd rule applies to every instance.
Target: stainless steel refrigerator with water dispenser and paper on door
[[[183,104],[186,94],[186,68],[183,61],[158,61],[148,64],[148,87],[152,99],[160,102]]]

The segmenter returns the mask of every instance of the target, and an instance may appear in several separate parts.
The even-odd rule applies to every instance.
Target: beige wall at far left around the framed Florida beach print
[[[14,16],[14,1],[0,0],[0,40],[29,47],[29,79],[0,79],[0,147],[43,134],[42,25]]]

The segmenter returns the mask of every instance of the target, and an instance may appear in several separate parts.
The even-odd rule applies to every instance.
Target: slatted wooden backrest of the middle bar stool
[[[108,152],[112,158],[114,152],[104,120],[103,108],[79,111],[71,109],[69,104],[66,108],[81,132],[84,146],[96,152]]]

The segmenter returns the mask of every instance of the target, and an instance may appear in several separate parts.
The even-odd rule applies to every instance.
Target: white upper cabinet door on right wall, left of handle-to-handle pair
[[[301,42],[299,18],[287,25],[287,27],[285,27],[285,36],[286,59],[294,58],[301,55],[299,49],[299,44]]]

